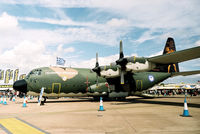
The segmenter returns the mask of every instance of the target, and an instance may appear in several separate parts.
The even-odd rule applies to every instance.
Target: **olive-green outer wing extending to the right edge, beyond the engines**
[[[200,46],[151,57],[148,58],[148,61],[158,64],[172,64],[195,58],[200,58]]]

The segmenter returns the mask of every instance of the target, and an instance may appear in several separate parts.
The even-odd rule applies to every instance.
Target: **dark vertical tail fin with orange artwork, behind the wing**
[[[172,53],[172,52],[175,52],[175,51],[176,51],[176,46],[175,46],[174,39],[169,37],[167,39],[166,44],[165,44],[165,48],[164,48],[163,54],[169,54],[169,53]],[[164,72],[168,72],[168,73],[179,72],[178,63],[169,64],[169,65],[163,65],[161,68],[162,68],[162,70]]]

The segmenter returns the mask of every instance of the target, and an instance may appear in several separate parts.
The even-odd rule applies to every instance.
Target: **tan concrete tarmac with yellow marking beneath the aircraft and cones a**
[[[7,100],[0,104],[0,134],[200,134],[200,96],[187,97],[189,114],[182,117],[184,96],[104,101],[92,98]]]

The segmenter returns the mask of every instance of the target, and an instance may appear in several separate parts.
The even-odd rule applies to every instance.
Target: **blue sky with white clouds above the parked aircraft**
[[[152,57],[168,37],[177,50],[200,46],[199,0],[1,0],[0,68],[31,69],[56,65],[93,68],[125,56]],[[179,64],[200,70],[200,59]],[[200,75],[165,82],[197,82]]]

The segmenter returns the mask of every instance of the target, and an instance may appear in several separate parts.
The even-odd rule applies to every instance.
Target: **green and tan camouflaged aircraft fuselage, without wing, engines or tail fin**
[[[170,73],[140,72],[126,74],[125,84],[120,84],[120,78],[98,78],[90,69],[43,67],[32,70],[24,79],[27,85],[14,84],[20,91],[24,88],[28,95],[38,96],[42,87],[46,97],[80,97],[80,96],[107,96],[126,97],[134,95],[136,91],[147,90],[159,82],[170,77]],[[25,89],[26,88],[26,89]]]

